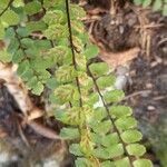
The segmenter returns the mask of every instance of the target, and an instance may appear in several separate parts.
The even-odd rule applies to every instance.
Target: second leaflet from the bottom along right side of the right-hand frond
[[[127,151],[131,156],[140,157],[146,153],[146,148],[139,144],[130,144],[126,147]]]

